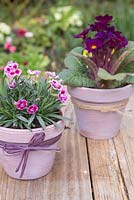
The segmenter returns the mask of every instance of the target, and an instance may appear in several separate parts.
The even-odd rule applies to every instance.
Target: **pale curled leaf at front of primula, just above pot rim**
[[[101,78],[102,80],[116,80],[116,81],[122,81],[125,79],[127,76],[126,73],[118,73],[115,75],[110,74],[103,68],[99,68],[98,70],[98,77]]]

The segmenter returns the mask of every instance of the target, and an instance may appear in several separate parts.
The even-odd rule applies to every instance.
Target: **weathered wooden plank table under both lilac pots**
[[[133,108],[131,99],[126,110]],[[134,200],[134,117],[125,116],[114,139],[85,139],[72,105],[53,170],[34,181],[8,177],[0,168],[0,200]]]

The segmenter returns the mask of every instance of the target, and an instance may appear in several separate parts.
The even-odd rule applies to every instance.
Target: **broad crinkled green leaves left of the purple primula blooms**
[[[82,50],[82,47],[77,47],[68,54],[64,61],[67,69],[60,72],[59,76],[65,85],[71,87],[95,87],[95,81],[87,75],[86,65],[81,62],[81,58],[79,59],[72,54],[72,52],[75,52],[82,56]]]

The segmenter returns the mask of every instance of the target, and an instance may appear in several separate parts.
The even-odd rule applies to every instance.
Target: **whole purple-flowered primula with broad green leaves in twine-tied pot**
[[[72,87],[116,88],[134,83],[134,42],[128,42],[109,15],[95,17],[95,22],[74,38],[82,47],[74,48],[65,58],[60,77]],[[131,73],[130,73],[131,72]]]

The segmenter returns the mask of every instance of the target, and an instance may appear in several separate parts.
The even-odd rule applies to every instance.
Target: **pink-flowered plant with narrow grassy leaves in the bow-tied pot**
[[[67,100],[62,80],[55,72],[41,77],[39,70],[22,70],[16,62],[4,68],[0,93],[0,126],[10,128],[38,128],[64,120],[60,108]]]

